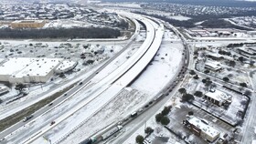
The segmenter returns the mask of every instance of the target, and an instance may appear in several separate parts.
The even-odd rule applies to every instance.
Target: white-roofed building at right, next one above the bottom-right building
[[[230,104],[232,102],[231,96],[218,89],[216,89],[214,92],[206,93],[205,98],[219,107],[223,106],[223,104]]]

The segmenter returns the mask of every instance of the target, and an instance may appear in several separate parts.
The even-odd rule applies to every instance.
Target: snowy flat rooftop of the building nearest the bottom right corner
[[[193,117],[187,120],[190,124],[196,126],[198,129],[201,129],[204,131],[208,136],[214,138],[219,135],[219,130],[215,129],[205,122],[203,122],[201,119]]]

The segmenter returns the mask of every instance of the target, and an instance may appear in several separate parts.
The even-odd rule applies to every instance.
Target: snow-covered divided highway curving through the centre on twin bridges
[[[73,94],[71,94],[69,100],[73,99],[73,101],[77,101],[76,104],[70,106],[71,102],[69,100],[64,101],[61,105],[59,104],[59,106],[55,106],[60,109],[63,108],[60,113],[54,113],[52,112],[53,110],[49,110],[45,114],[29,122],[27,124],[27,128],[18,129],[14,135],[7,136],[6,142],[8,139],[10,139],[8,142],[32,143],[33,141],[41,138],[49,130],[54,129],[56,126],[59,126],[59,124],[62,124],[62,121],[71,117],[75,112],[80,110],[80,108],[95,102],[97,105],[94,105],[95,107],[92,108],[94,111],[88,111],[88,115],[85,117],[90,118],[96,110],[115,97],[123,89],[123,87],[126,87],[129,83],[131,83],[155,56],[155,53],[161,44],[162,36],[164,35],[164,26],[155,27],[153,21],[144,17],[138,18],[138,15],[136,15],[135,18],[144,23],[146,26],[147,36],[143,45],[140,46],[132,57],[125,61],[122,66],[116,68],[107,77],[102,78],[101,81],[95,81],[93,78],[91,78],[91,80],[87,82],[87,84],[89,84],[91,87],[81,87],[79,91],[72,91]],[[100,73],[101,72],[97,70],[95,75],[99,75]],[[81,89],[84,90],[82,94],[80,94]],[[107,95],[108,91],[114,91],[114,93]],[[102,95],[106,95],[107,98],[101,101],[95,101]],[[38,123],[37,120],[39,121],[39,119],[42,117],[48,118],[48,120]],[[53,120],[55,124],[50,126],[49,122]],[[64,131],[63,135],[66,134],[65,132],[69,133],[69,131]],[[55,141],[53,142],[58,142],[61,140],[61,138],[54,140]]]

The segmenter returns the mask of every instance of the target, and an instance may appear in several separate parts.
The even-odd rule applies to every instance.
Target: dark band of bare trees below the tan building
[[[0,38],[116,38],[120,30],[109,27],[59,29],[0,29]]]

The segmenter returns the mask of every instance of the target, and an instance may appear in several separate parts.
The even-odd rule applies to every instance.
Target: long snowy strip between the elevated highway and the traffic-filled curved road
[[[180,42],[171,43],[171,40],[176,39],[170,39],[168,35],[165,37],[165,44],[158,51],[159,56],[155,57],[152,65],[146,68],[144,73],[138,77],[133,85],[123,90],[108,105],[101,108],[92,118],[84,122],[80,129],[71,133],[62,143],[77,143],[85,138],[91,137],[93,133],[111,125],[113,121],[118,122],[120,119],[130,115],[134,110],[143,107],[145,102],[154,98],[155,94],[165,87],[175,76],[177,67],[181,63],[183,51],[183,46]],[[166,60],[161,59],[161,57],[165,57]],[[161,69],[163,69],[161,75],[155,75],[160,74],[159,70]],[[162,73],[164,74],[162,75]],[[145,83],[147,85],[144,85]],[[104,122],[99,123],[96,119],[101,119]]]

